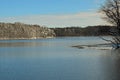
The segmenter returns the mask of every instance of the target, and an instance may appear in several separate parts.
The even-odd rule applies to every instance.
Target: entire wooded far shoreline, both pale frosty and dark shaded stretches
[[[108,36],[114,26],[47,28],[24,23],[0,23],[0,39],[38,39],[66,36]]]

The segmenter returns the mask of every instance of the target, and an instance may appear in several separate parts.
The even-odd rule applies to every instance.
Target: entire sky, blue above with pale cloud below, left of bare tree
[[[0,22],[47,27],[107,24],[98,10],[104,0],[0,0]]]

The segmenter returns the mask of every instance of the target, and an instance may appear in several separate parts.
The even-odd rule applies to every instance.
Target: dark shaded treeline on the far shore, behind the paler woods
[[[56,36],[108,36],[110,31],[114,30],[114,26],[88,26],[82,27],[65,27],[51,28]]]

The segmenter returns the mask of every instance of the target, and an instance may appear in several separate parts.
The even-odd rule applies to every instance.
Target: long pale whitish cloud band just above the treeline
[[[22,22],[47,27],[92,26],[106,24],[96,12],[81,12],[61,15],[29,15],[1,18],[0,22]]]

